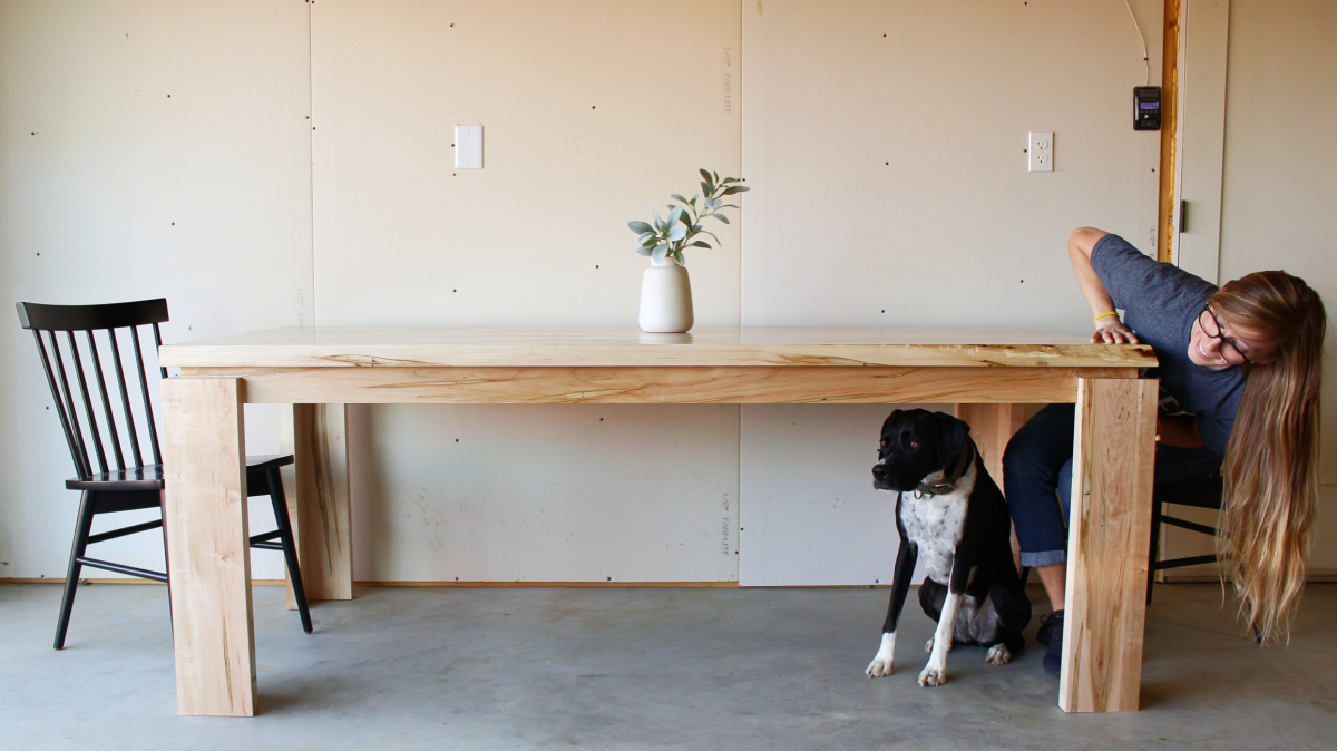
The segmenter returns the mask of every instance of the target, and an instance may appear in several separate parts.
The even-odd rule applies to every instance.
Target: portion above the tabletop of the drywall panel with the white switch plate
[[[321,1],[324,325],[636,325],[631,219],[735,175],[738,3]],[[455,170],[456,124],[483,168]],[[738,321],[737,226],[687,254],[698,325]]]

